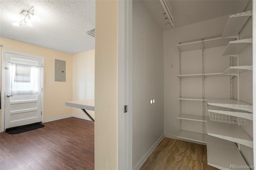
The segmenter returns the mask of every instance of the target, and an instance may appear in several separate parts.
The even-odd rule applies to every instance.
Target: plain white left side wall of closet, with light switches
[[[140,166],[164,134],[163,34],[142,1],[133,1],[132,159]],[[155,103],[150,105],[150,99]]]

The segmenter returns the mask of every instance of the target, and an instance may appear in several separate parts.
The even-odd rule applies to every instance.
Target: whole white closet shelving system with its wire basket
[[[252,121],[252,105],[240,101],[239,87],[242,84],[246,88],[252,82],[252,37],[242,34],[251,16],[252,11],[231,15],[222,35],[177,45],[180,51],[177,137],[205,143],[208,164],[219,169],[236,164],[246,166],[237,145],[253,148],[252,138],[241,127]],[[198,61],[197,64],[192,65],[191,59]]]

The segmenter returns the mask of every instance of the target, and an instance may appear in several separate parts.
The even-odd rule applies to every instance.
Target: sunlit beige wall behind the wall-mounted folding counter
[[[94,99],[95,49],[73,55],[73,101]],[[94,111],[88,111],[94,118]],[[73,116],[86,117],[73,108]]]

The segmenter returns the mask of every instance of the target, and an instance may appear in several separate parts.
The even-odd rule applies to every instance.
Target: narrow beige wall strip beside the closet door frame
[[[118,169],[118,1],[96,0],[95,170]]]

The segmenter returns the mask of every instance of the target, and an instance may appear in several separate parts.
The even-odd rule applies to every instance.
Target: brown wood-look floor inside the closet
[[[207,164],[206,145],[164,138],[140,170],[217,170]]]

